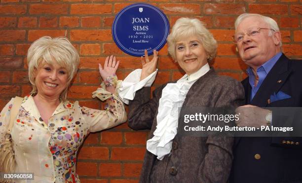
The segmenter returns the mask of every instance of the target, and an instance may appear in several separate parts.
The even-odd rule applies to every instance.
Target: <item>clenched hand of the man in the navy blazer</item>
[[[266,115],[269,110],[259,108],[257,106],[245,105],[235,110],[239,115],[239,120],[235,121],[237,126],[261,127],[266,126]]]

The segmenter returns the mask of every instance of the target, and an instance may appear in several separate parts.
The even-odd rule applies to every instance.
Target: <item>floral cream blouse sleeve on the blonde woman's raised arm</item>
[[[116,77],[116,76],[114,76]],[[119,125],[127,120],[127,114],[122,101],[118,98],[117,89],[120,87],[121,80],[116,80],[115,92],[110,93],[105,90],[104,82],[101,87],[94,91],[92,97],[106,101],[105,110],[95,110],[81,107],[83,119],[90,124],[90,132],[96,132]]]

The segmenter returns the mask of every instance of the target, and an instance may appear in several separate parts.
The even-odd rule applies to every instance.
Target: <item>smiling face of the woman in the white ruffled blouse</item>
[[[176,61],[188,74],[195,73],[208,63],[207,53],[198,37],[186,37],[175,44]]]

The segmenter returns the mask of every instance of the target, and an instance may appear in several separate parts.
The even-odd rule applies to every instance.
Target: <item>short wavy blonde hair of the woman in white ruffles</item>
[[[175,60],[175,43],[181,39],[197,36],[206,50],[209,59],[211,61],[217,54],[217,41],[213,35],[205,28],[204,23],[194,18],[180,18],[175,22],[171,33],[169,34],[168,41],[168,52]]]

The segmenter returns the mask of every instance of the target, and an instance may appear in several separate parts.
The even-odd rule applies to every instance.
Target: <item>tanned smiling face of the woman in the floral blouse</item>
[[[41,63],[36,69],[35,83],[38,94],[44,97],[59,99],[60,94],[67,87],[67,81],[67,70],[58,64]]]

